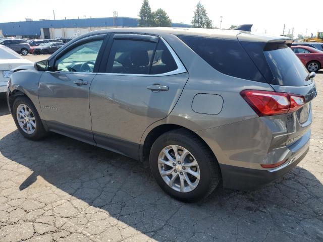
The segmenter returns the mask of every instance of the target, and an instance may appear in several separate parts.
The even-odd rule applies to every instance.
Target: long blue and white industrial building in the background
[[[138,19],[128,17],[39,20],[0,23],[0,35],[20,38],[76,37],[82,33],[104,29],[137,27]],[[189,24],[172,23],[172,27],[191,27]]]

